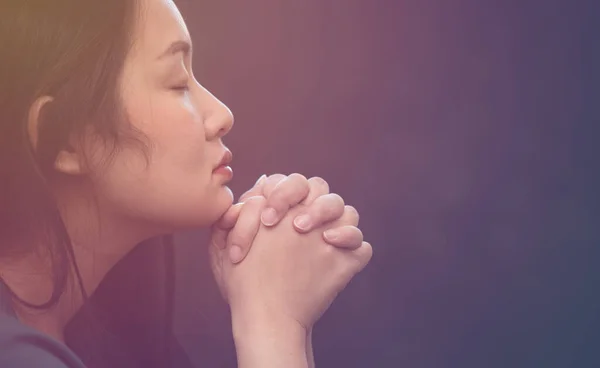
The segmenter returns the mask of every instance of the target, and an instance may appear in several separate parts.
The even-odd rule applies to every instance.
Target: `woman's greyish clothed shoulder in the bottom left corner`
[[[0,367],[85,368],[64,344],[0,312]]]

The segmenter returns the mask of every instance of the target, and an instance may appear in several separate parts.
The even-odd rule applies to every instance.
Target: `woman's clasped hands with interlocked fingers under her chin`
[[[212,228],[211,264],[233,317],[309,330],[372,256],[358,222],[321,178],[261,177]]]

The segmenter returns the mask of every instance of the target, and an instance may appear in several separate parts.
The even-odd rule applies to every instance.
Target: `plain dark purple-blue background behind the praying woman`
[[[237,195],[322,176],[375,248],[320,367],[600,366],[592,1],[178,2],[236,125]],[[233,367],[206,234],[178,234],[178,334]]]

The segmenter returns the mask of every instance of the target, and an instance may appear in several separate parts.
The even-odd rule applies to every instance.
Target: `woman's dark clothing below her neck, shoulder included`
[[[158,240],[106,275],[65,327],[68,346],[21,324],[0,281],[0,368],[193,367],[172,328],[172,240]]]

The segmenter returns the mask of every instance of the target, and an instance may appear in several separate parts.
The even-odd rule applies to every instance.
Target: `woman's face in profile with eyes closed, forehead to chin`
[[[123,147],[96,178],[110,211],[156,229],[207,226],[232,204],[228,150],[221,138],[230,110],[192,74],[191,40],[169,0],[140,0],[134,45],[123,70],[122,101],[129,123],[150,143]]]

